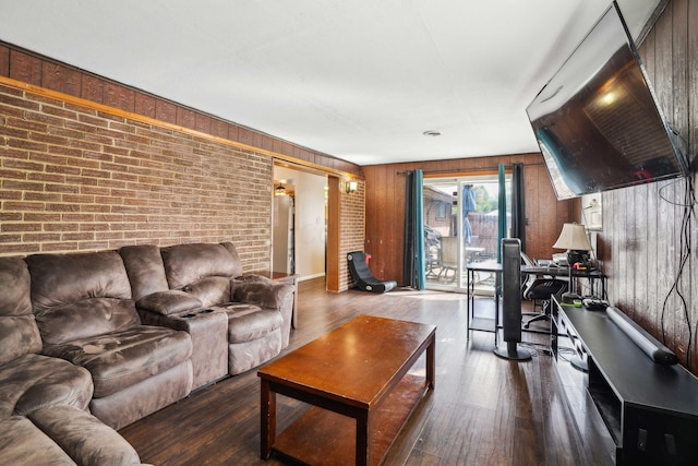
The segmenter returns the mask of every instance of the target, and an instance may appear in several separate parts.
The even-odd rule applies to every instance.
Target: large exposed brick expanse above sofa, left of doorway
[[[0,85],[0,255],[232,241],[268,268],[269,155]]]

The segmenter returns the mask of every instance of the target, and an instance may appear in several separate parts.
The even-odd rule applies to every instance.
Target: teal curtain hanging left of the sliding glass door
[[[426,274],[424,271],[424,174],[422,170],[406,174],[405,202],[405,266],[402,276],[405,285],[424,289]]]

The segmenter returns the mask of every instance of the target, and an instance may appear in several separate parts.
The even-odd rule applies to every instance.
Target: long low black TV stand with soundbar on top
[[[565,336],[565,345],[586,354],[587,393],[613,439],[615,464],[698,464],[698,379],[679,365],[652,361],[605,310],[561,306],[554,298],[553,306],[556,363],[568,365],[558,351]]]

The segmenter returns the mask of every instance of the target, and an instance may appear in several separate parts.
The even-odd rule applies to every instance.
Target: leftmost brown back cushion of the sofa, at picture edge
[[[0,258],[0,366],[40,350],[26,263],[21,258]]]

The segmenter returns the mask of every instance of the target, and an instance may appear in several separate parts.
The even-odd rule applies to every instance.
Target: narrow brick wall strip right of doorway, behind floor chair
[[[339,268],[344,271],[339,276],[339,290],[345,291],[353,285],[349,266],[347,264],[347,253],[351,251],[363,251],[365,238],[365,183],[357,182],[357,191],[350,194],[341,193],[341,220],[339,236]]]

